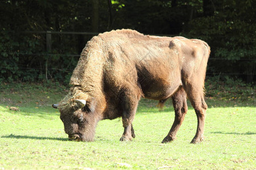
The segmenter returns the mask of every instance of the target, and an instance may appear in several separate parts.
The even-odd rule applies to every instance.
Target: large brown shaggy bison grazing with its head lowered
[[[68,95],[53,108],[60,111],[65,133],[73,141],[93,141],[97,122],[122,117],[120,141],[135,138],[133,120],[141,97],[171,98],[175,120],[162,143],[174,141],[188,111],[197,116],[196,135],[203,141],[204,80],[210,48],[184,37],[143,35],[130,29],[100,33],[87,42],[71,76]]]

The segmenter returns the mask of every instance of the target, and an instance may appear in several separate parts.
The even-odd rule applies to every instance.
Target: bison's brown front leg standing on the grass
[[[138,98],[135,97],[137,95],[132,95],[131,93],[126,93],[122,100],[122,122],[123,128],[123,135],[120,138],[120,141],[132,141],[135,138],[134,129],[132,122],[134,120],[134,116],[138,106]]]

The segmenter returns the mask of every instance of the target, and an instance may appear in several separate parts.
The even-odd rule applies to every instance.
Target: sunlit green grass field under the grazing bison
[[[218,89],[208,89],[205,141],[192,145],[197,122],[191,106],[172,143],[160,143],[174,120],[171,101],[159,112],[156,101],[144,99],[132,142],[119,142],[120,118],[100,121],[94,142],[72,142],[59,112],[51,108],[67,93],[65,88],[2,84],[0,169],[255,169],[255,89],[243,87],[230,95]]]

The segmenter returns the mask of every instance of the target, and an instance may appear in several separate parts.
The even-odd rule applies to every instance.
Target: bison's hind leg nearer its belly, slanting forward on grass
[[[175,111],[174,124],[172,124],[171,130],[169,131],[168,135],[163,139],[162,143],[171,142],[176,139],[177,131],[179,130],[180,125],[185,118],[185,114],[188,111],[187,97],[183,88],[180,88],[172,96],[172,104],[174,105]]]

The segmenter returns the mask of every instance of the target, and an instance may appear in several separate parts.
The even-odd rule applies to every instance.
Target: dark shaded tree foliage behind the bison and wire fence
[[[55,79],[68,83],[79,59],[69,54],[79,54],[92,35],[55,33],[48,49],[46,33],[38,31],[130,28],[207,41],[212,50],[208,75],[234,73],[230,76],[252,82],[256,70],[255,8],[253,0],[3,0],[0,81]]]

